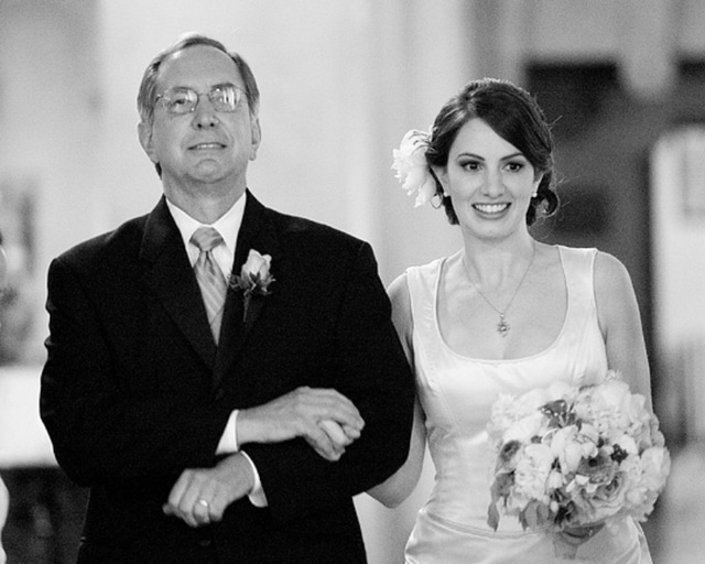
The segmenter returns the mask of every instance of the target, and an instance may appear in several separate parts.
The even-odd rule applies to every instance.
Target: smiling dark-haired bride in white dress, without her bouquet
[[[556,543],[565,543],[576,547],[573,563],[651,563],[630,518],[555,535],[524,531],[512,518],[500,520],[497,531],[487,524],[486,425],[501,392],[521,394],[556,380],[596,382],[614,369],[651,410],[641,322],[625,267],[596,249],[544,245],[529,232],[558,204],[553,140],[541,109],[510,83],[473,82],[441,109],[431,133],[412,131],[404,144],[416,155],[425,151],[421,175],[410,174],[415,184],[404,187],[419,188],[417,202],[440,197],[463,235],[458,252],[410,268],[390,286],[419,402],[409,459],[369,494],[389,507],[405,499],[426,442],[435,466],[406,562],[545,564],[561,562]]]

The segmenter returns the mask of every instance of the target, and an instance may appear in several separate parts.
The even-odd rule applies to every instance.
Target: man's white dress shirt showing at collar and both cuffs
[[[210,251],[210,254],[223,272],[225,279],[229,279],[230,272],[232,271],[232,263],[235,261],[235,249],[238,241],[238,234],[240,232],[240,226],[242,225],[242,216],[245,215],[245,195],[239,197],[232,207],[215,224],[204,225],[166,198],[166,205],[169,206],[169,210],[174,218],[174,223],[181,232],[192,267],[196,263],[196,260],[198,260],[198,253],[200,251],[198,247],[191,242],[191,237],[199,227],[213,227],[218,231],[218,234],[220,234],[220,237],[223,237],[224,245],[218,245]],[[239,445],[237,442],[237,419],[238,410],[235,410],[228,419],[228,423],[226,424],[220,442],[218,443],[216,454],[232,454],[239,452]],[[249,495],[250,501],[256,507],[267,507],[267,497],[264,496],[264,490],[262,489],[257,467],[247,453],[242,453],[242,455],[250,463],[252,471],[254,473],[254,487]]]

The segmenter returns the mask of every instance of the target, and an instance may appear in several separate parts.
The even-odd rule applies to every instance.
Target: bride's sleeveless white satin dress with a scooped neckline
[[[596,381],[607,370],[593,290],[595,249],[558,247],[567,288],[567,313],[555,341],[516,360],[482,360],[448,348],[437,323],[440,274],[445,259],[409,269],[416,382],[426,414],[435,481],[419,511],[405,550],[410,564],[546,564],[556,556],[554,535],[523,531],[502,517],[487,524],[492,455],[486,425],[500,392],[522,394],[555,380]],[[641,528],[632,519],[603,528],[583,543],[572,564],[651,564]]]

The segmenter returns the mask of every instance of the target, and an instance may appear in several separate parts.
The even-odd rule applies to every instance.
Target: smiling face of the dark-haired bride
[[[465,231],[489,239],[527,229],[527,209],[541,175],[481,119],[460,128],[447,165],[435,172]]]

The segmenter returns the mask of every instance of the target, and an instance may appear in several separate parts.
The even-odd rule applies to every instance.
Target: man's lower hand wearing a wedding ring
[[[245,455],[236,453],[213,468],[186,469],[174,484],[163,510],[191,527],[220,521],[225,510],[252,490],[254,476]]]

